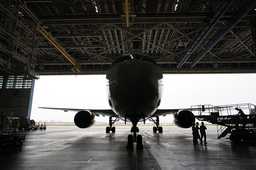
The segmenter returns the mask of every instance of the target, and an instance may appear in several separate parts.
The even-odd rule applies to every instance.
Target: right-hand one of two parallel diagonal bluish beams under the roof
[[[211,48],[220,41],[220,39],[226,35],[248,12],[250,12],[252,9],[254,9],[256,6],[256,1],[252,0],[250,4],[246,5],[244,9],[242,9],[236,16],[234,16],[231,21],[227,24],[227,26],[218,34],[216,35],[216,38],[212,40],[211,43],[203,50],[203,52],[196,57],[196,59],[192,62],[190,67],[196,65],[196,63],[204,57],[204,55],[211,50]]]

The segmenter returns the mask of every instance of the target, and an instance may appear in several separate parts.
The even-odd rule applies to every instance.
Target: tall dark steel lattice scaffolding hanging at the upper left
[[[39,20],[25,4],[0,4],[0,9],[5,14],[1,15],[0,70],[39,78],[35,71]],[[32,20],[26,20],[28,16],[24,15]]]

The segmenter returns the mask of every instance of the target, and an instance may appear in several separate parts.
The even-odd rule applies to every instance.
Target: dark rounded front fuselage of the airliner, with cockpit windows
[[[107,76],[108,102],[121,120],[147,120],[161,102],[163,74],[147,54],[130,52],[110,66]]]

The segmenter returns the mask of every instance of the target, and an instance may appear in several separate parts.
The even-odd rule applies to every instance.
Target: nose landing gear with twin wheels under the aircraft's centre
[[[133,135],[128,135],[128,142],[126,149],[133,149],[133,142],[137,142],[137,149],[143,149],[142,144],[142,136],[136,135],[137,132],[139,132],[139,128],[136,125],[132,125],[131,132],[133,132]]]

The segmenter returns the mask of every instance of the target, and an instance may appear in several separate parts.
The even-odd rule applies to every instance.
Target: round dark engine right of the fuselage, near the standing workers
[[[174,115],[173,122],[180,128],[192,127],[192,122],[195,122],[196,118],[189,110],[181,110]]]

